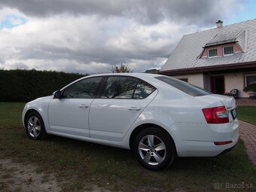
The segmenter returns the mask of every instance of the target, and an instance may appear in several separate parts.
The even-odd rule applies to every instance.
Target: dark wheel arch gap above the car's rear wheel
[[[145,123],[145,124],[142,124],[142,125],[139,125],[137,126],[133,132],[131,133],[130,135],[130,141],[129,141],[129,145],[130,145],[130,149],[133,150],[134,146],[134,140],[136,139],[136,136],[139,134],[139,132],[141,132],[142,130],[145,130],[145,129],[148,129],[148,128],[151,128],[151,127],[157,127],[159,128],[160,130],[162,130],[164,133],[166,133],[166,136],[169,137],[169,139],[171,140],[171,142],[173,143],[173,145],[175,146],[175,142],[172,138],[172,136],[165,130],[163,129],[162,126],[159,126],[157,124],[154,124],[154,123]],[[177,154],[177,151],[176,151],[176,146],[175,146],[175,153]]]

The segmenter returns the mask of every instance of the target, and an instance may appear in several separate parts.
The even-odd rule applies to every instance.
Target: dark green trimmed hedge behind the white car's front
[[[84,75],[32,70],[0,70],[0,101],[28,102],[49,96]]]

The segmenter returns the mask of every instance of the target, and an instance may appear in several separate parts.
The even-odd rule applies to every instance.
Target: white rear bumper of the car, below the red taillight
[[[178,157],[214,157],[233,148],[239,140],[239,121],[218,125],[177,123],[172,127]],[[226,145],[215,142],[232,141]]]

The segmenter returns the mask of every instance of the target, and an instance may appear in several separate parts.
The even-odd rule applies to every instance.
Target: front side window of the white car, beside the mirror
[[[62,93],[62,98],[92,99],[96,96],[96,90],[102,77],[85,78],[67,87]]]

